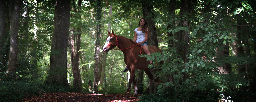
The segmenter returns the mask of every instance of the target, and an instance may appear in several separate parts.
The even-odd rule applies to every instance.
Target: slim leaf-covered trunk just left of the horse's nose
[[[95,20],[96,20],[96,34],[95,34],[95,63],[94,63],[94,79],[93,79],[93,89],[94,93],[98,93],[98,82],[99,82],[99,53],[100,53],[100,37],[101,37],[101,14],[102,14],[102,2],[101,0],[96,0],[94,5]]]

